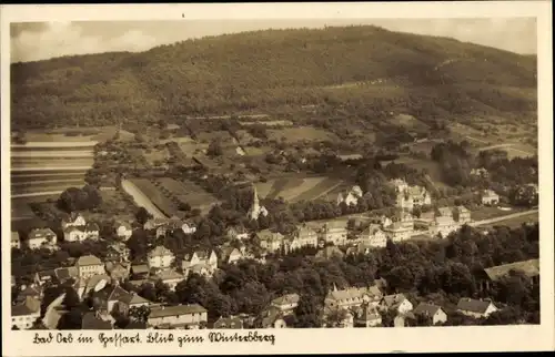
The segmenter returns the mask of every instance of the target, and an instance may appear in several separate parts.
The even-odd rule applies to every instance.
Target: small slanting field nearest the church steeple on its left
[[[191,208],[199,208],[203,213],[206,213],[212,204],[218,202],[216,197],[190,181],[163,177],[155,180],[155,182],[162,188],[162,192],[169,193],[169,196],[173,196],[182,203],[188,203]]]

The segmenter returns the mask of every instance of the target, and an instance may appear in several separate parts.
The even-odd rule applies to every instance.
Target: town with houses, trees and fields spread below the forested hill
[[[325,90],[143,122],[17,106],[12,329],[538,324],[536,123]]]

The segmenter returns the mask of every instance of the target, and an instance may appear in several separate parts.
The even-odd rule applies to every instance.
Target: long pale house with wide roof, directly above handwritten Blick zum
[[[198,304],[192,304],[152,307],[147,325],[158,328],[193,329],[206,324],[206,309]]]

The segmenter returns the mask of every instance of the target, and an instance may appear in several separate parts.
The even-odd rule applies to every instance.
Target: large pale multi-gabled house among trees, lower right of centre
[[[324,299],[324,307],[333,308],[352,308],[366,303],[376,307],[382,299],[382,292],[377,286],[370,287],[347,287],[345,289],[333,289],[327,293]]]

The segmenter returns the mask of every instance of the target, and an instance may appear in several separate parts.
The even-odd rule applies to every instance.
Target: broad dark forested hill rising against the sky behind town
[[[323,103],[350,103],[367,115],[393,106],[418,116],[536,109],[533,57],[370,26],[244,32],[141,53],[14,63],[11,83],[16,128]]]

